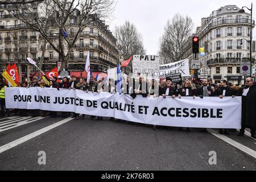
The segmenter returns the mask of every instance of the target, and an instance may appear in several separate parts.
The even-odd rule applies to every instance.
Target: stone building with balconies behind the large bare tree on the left
[[[36,72],[36,68],[28,63],[27,57],[31,57],[37,63],[42,62],[43,71],[49,71],[56,67],[57,62],[61,62],[59,54],[49,43],[44,47],[44,38],[40,33],[20,22],[11,15],[10,10],[11,5],[0,5],[0,73],[5,71],[7,64],[16,63],[21,80],[30,77],[32,73]],[[74,28],[76,27],[75,16],[74,13],[69,18],[69,23],[73,24]],[[67,34],[71,40],[75,36],[72,33],[72,28]],[[52,33],[50,36],[53,39],[59,39],[56,34]],[[64,48],[68,49],[67,45]],[[88,50],[90,52],[90,69],[93,72],[107,73],[109,65],[110,68],[113,68],[119,63],[117,39],[103,20],[95,19],[81,32],[81,37],[77,40],[68,59],[69,71],[82,72],[85,70]],[[67,50],[64,49],[64,51]]]

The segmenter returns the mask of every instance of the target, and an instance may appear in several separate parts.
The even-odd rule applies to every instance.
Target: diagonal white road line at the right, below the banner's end
[[[214,135],[215,137],[224,140],[224,142],[229,143],[229,144],[231,144],[232,146],[238,148],[239,150],[245,152],[246,154],[248,154],[248,155],[253,156],[254,158],[256,158],[256,151],[252,150],[251,148],[246,147],[246,146],[244,146],[243,144],[238,143],[238,142],[236,142],[235,140],[232,140],[232,139],[226,137],[225,135],[221,135],[221,134],[219,134],[217,131],[214,131],[214,130],[212,130],[212,129],[208,129],[208,131],[209,131],[210,134]]]

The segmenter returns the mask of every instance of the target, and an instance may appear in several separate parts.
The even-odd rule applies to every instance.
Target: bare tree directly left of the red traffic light
[[[193,22],[189,16],[176,14],[168,20],[165,32],[160,38],[160,63],[167,64],[185,59],[189,36],[192,35]]]

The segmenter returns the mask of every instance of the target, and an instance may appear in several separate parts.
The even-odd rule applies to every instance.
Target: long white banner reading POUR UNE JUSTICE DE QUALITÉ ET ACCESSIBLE
[[[68,111],[150,125],[241,128],[241,97],[142,97],[51,88],[6,88],[6,108]]]

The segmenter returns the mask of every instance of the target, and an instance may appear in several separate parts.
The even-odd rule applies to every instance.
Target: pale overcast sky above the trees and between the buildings
[[[201,18],[208,17],[213,10],[217,10],[225,5],[247,6],[250,8],[251,0],[215,0],[203,1],[171,1],[171,0],[118,0],[114,11],[114,19],[110,23],[110,30],[115,26],[129,20],[134,23],[138,31],[141,32],[148,55],[156,55],[159,51],[159,38],[163,35],[164,26],[168,19],[176,13],[189,15],[195,28],[201,25]],[[250,13],[245,8],[247,13]],[[256,17],[256,3],[253,5],[253,19]],[[256,28],[254,28],[254,38],[256,39]]]

